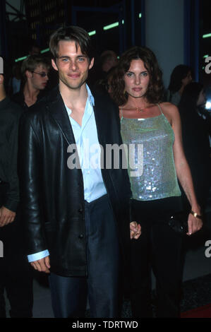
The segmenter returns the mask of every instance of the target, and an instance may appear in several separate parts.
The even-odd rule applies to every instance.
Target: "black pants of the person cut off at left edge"
[[[0,206],[6,186],[0,185]],[[32,317],[32,268],[23,249],[23,232],[18,215],[13,223],[0,227],[4,257],[0,258],[0,317],[6,317],[4,290],[11,305],[11,317]]]

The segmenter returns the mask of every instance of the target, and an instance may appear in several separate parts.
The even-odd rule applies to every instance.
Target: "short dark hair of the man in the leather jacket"
[[[49,48],[53,54],[54,59],[58,57],[59,42],[73,41],[76,44],[76,49],[80,46],[81,52],[90,60],[93,58],[93,50],[91,39],[83,28],[78,26],[69,26],[66,28],[59,28],[50,37]]]

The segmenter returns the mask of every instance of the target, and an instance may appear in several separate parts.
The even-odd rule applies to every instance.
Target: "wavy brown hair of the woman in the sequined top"
[[[141,59],[150,75],[150,83],[145,97],[148,102],[156,104],[162,102],[164,85],[162,83],[162,71],[159,69],[155,54],[147,47],[135,46],[121,55],[119,64],[111,80],[112,98],[117,105],[125,105],[128,94],[124,91],[124,74],[129,70],[131,61]]]

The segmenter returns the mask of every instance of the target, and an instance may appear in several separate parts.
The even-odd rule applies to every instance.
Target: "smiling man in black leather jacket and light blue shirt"
[[[85,30],[60,28],[50,49],[59,88],[25,112],[20,126],[28,259],[51,272],[56,317],[85,316],[87,297],[91,316],[119,316],[119,243],[130,238],[131,191],[127,170],[106,155],[107,144],[122,143],[118,109],[85,83],[94,62]],[[102,159],[111,167],[97,167]],[[139,234],[132,223],[131,237]]]

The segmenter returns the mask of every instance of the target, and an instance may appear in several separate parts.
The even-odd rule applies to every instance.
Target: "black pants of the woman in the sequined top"
[[[142,227],[131,241],[131,307],[134,317],[152,317],[151,268],[156,278],[157,316],[178,317],[183,238],[167,225],[181,211],[179,198],[133,201],[133,220]]]

